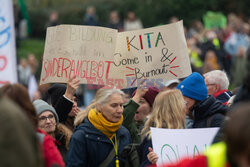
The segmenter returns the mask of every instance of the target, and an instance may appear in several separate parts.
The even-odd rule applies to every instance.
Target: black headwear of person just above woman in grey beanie
[[[66,86],[63,84],[54,84],[48,89],[52,106],[55,106],[58,99],[65,94]]]

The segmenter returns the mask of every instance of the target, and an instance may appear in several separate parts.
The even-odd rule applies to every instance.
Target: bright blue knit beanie
[[[203,101],[207,98],[207,87],[203,77],[194,72],[177,85],[183,96],[197,101]]]

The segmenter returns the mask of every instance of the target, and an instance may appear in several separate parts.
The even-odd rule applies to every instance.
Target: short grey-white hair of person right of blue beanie
[[[209,84],[219,84],[220,90],[228,89],[229,80],[225,71],[213,70],[203,74]]]

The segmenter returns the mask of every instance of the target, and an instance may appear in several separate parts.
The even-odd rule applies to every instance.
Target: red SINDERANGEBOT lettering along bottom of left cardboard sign
[[[93,84],[109,84],[113,87],[114,80],[109,78],[112,63],[112,61],[74,60],[62,57],[44,60],[42,81],[48,78],[66,79],[76,75],[80,79],[86,79],[88,84],[93,82]],[[117,83],[121,85],[122,81],[117,81]]]

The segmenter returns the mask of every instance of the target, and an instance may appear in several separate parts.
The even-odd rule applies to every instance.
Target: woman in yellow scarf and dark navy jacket
[[[99,89],[93,102],[78,113],[67,153],[68,167],[125,165],[121,154],[131,138],[122,126],[123,97],[119,89]]]

